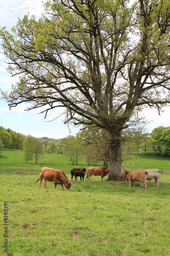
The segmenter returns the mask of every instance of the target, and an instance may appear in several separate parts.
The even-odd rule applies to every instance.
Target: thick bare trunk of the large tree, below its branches
[[[115,135],[114,135],[115,136]],[[109,150],[109,167],[111,169],[108,180],[122,180],[121,174],[122,166],[122,151],[121,151],[121,137],[116,136],[112,139]]]

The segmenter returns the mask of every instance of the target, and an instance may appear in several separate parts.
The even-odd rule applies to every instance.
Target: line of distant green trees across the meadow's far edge
[[[70,158],[72,164],[78,164],[80,155],[86,157],[88,165],[96,165],[103,161],[108,166],[109,135],[101,129],[85,127],[76,136],[67,136],[60,140],[48,138],[37,139],[31,135],[25,136],[11,129],[0,126],[0,150],[9,148],[23,151],[26,163],[35,157],[37,159],[45,153],[61,153]],[[170,155],[170,126],[159,126],[152,133],[145,132],[139,126],[127,129],[122,134],[122,161],[128,153],[153,152],[154,155]]]

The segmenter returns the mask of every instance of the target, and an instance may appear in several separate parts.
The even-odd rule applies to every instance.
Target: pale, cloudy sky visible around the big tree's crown
[[[43,5],[41,0],[0,0],[0,27],[6,26],[10,32],[19,18],[23,15],[34,14],[40,17],[43,13]],[[11,77],[6,70],[5,57],[3,49],[0,47],[0,88],[3,91],[9,91],[11,84],[15,84],[17,78]],[[68,135],[76,135],[79,128],[75,128],[63,123],[64,116],[55,119],[57,116],[56,111],[49,112],[47,118],[44,119],[44,114],[38,114],[36,110],[25,111],[26,105],[20,104],[15,108],[9,110],[6,101],[0,99],[0,125],[6,129],[21,133],[24,135],[32,135],[36,138],[48,137],[53,139],[60,139]],[[58,113],[60,113],[58,111]],[[170,126],[170,107],[164,109],[161,116],[158,115],[156,109],[145,109],[143,111],[145,118],[152,121],[146,126],[148,132],[152,132],[155,127],[160,125],[167,127]],[[54,121],[52,121],[55,119]]]

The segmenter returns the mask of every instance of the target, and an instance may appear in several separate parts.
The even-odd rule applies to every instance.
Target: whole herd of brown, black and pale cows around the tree
[[[44,179],[44,186],[46,188],[46,182],[52,181],[54,182],[54,187],[56,189],[57,184],[60,184],[62,189],[64,190],[63,184],[66,189],[70,190],[72,184],[72,178],[75,177],[77,181],[77,177],[80,177],[80,180],[84,181],[85,172],[87,171],[88,181],[90,181],[90,177],[94,176],[101,176],[101,181],[103,181],[103,177],[107,174],[110,174],[110,168],[106,167],[88,167],[87,170],[85,168],[72,168],[71,173],[71,181],[68,180],[65,173],[62,170],[42,167],[39,174],[39,188],[41,185],[42,180]],[[129,186],[133,183],[135,186],[135,181],[140,182],[140,186],[147,188],[147,180],[151,181],[155,179],[155,186],[159,186],[159,178],[161,174],[159,169],[137,169],[135,171],[131,170],[122,170],[122,178],[126,181],[129,181]],[[36,182],[37,182],[36,181]]]

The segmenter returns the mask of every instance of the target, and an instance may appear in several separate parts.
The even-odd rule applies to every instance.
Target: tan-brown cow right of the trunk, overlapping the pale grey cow
[[[135,181],[140,181],[143,182],[143,186],[145,185],[145,188],[147,188],[147,175],[148,173],[145,170],[130,170],[126,178],[129,180],[129,186],[131,186],[133,182],[135,187]]]

